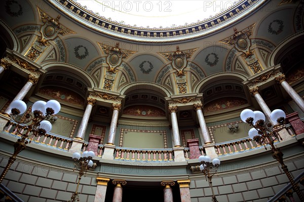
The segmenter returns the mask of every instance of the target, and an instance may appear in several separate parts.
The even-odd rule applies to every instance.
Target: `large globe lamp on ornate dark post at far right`
[[[275,140],[279,138],[282,140],[279,135],[279,131],[282,130],[285,125],[286,115],[284,111],[277,109],[271,113],[270,118],[274,123],[276,123],[274,126],[271,123],[264,123],[265,115],[260,111],[253,112],[252,110],[246,109],[241,112],[240,116],[243,122],[253,126],[253,128],[251,128],[248,132],[250,139],[264,145],[265,149],[267,149],[266,145],[270,144],[272,157],[281,164],[281,168],[287,175],[290,184],[292,185],[292,189],[299,196],[300,200],[304,201],[304,195],[300,192],[299,187],[295,184],[287,166],[284,164],[282,151],[274,145]]]

